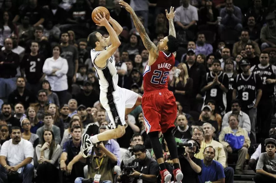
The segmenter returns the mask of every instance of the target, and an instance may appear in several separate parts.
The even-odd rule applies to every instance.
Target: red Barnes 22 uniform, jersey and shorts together
[[[168,75],[175,65],[175,56],[159,51],[156,61],[146,65],[143,75],[142,109],[146,132],[165,133],[175,127],[177,106],[173,92],[168,90]]]

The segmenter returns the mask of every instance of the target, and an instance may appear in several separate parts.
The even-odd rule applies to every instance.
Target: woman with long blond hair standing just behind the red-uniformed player
[[[184,113],[190,112],[190,94],[193,89],[193,80],[192,78],[189,78],[188,75],[188,68],[187,65],[184,63],[180,63],[177,66],[177,69],[179,69],[180,73],[179,75],[176,73],[173,79],[171,80],[170,86],[173,87],[175,100],[179,101],[179,103],[182,105],[183,110],[180,111]]]

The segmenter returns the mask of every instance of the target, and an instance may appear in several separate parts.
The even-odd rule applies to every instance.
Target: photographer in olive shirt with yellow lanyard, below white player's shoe
[[[88,164],[87,179],[78,177],[75,183],[112,183],[114,166],[117,165],[117,157],[106,149],[105,145],[97,143],[94,155],[88,158],[81,157],[82,163]]]

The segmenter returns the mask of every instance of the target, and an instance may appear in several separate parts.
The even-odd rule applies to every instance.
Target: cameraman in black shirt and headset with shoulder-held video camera
[[[185,143],[186,144],[186,143]],[[190,139],[186,147],[178,147],[179,163],[183,173],[182,182],[197,183],[197,176],[201,175],[201,160],[195,157],[200,150],[200,144]],[[180,152],[181,151],[181,152]]]

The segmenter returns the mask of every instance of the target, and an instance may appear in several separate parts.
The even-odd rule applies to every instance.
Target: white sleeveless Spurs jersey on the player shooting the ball
[[[102,51],[95,51],[95,49],[91,49],[91,60],[99,79],[100,90],[102,92],[114,92],[118,86],[118,74],[115,66],[115,57],[112,55],[106,60],[106,66],[104,68],[98,68],[94,61],[101,52]]]

